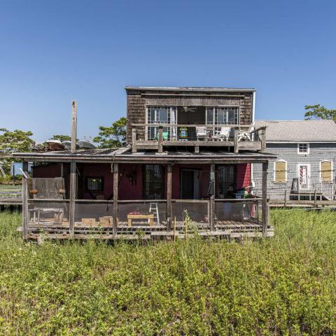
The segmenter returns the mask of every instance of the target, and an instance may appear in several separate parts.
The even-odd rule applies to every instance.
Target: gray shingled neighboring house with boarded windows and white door
[[[266,125],[266,150],[277,155],[269,160],[268,197],[335,200],[336,124],[332,120],[256,120]],[[257,195],[262,190],[262,169],[253,164],[251,179]],[[298,197],[300,195],[300,197]]]

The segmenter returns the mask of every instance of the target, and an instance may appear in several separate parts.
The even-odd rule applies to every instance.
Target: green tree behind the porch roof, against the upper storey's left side
[[[127,118],[118,119],[110,127],[99,126],[99,135],[93,141],[99,144],[99,148],[122,147],[126,144]]]

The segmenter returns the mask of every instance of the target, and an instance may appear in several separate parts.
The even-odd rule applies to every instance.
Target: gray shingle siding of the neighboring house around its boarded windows
[[[267,144],[267,153],[278,156],[276,160],[287,161],[287,183],[274,183],[274,162],[270,160],[267,170],[267,193],[272,199],[283,199],[285,190],[288,190],[289,197],[293,179],[297,178],[297,164],[309,164],[310,176],[312,179],[320,177],[320,162],[323,160],[332,161],[332,169],[335,169],[336,144],[322,143],[309,144],[309,154],[297,154],[297,144]],[[332,172],[332,178],[335,180],[335,172]],[[253,181],[258,195],[262,195],[262,166],[253,165]]]

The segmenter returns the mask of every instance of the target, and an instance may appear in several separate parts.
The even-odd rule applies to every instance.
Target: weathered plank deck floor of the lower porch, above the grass
[[[22,231],[22,228],[18,228]],[[222,237],[244,238],[244,237],[262,237],[262,223],[258,221],[218,221],[214,230],[210,230],[207,223],[190,223],[188,226],[183,222],[176,223],[173,230],[167,230],[165,225],[132,225],[119,223],[116,235],[113,235],[111,225],[83,225],[76,223],[74,228],[74,239],[101,239],[101,240],[134,240],[134,239],[186,239],[197,235],[201,237]],[[267,228],[265,237],[272,237],[274,229]],[[28,239],[69,239],[69,223],[50,223],[41,222],[40,224],[30,222],[28,225]]]

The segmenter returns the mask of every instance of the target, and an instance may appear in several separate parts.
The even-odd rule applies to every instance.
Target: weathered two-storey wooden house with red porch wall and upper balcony
[[[275,157],[265,127],[253,126],[254,89],[125,89],[125,148],[76,151],[73,142],[72,151],[15,154],[25,169],[34,162],[23,237],[185,237],[188,218],[200,235],[272,235],[266,176]],[[248,193],[251,163],[261,165],[262,198]]]

